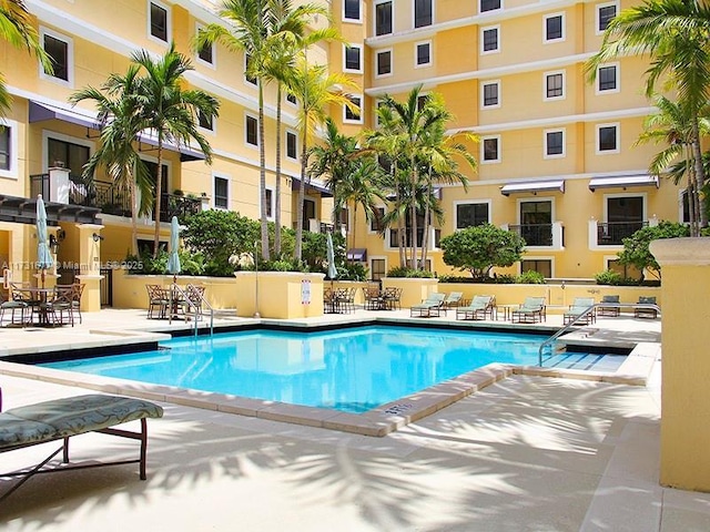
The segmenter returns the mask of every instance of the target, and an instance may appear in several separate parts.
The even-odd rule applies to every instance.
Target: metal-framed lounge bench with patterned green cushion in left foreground
[[[2,396],[0,391],[0,410]],[[14,451],[26,447],[38,446],[50,441],[63,440],[62,447],[52,452],[38,466],[22,471],[0,473],[0,478],[21,477],[0,501],[20,488],[32,475],[72,469],[115,466],[121,463],[140,463],[140,478],[145,480],[145,461],[148,448],[148,418],[160,418],[163,409],[158,405],[141,399],[119,396],[85,395],[67,397],[52,401],[38,402],[0,412],[0,453]],[[116,424],[141,420],[141,431],[133,432],[113,428]],[[140,458],[112,462],[77,464],[54,469],[42,469],[59,452],[63,451],[63,462],[69,463],[69,438],[85,432],[101,432],[140,440]]]

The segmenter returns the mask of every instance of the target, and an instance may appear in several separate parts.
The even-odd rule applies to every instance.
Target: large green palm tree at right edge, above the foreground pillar
[[[607,27],[601,49],[586,65],[594,81],[597,68],[626,54],[647,53],[646,93],[672,90],[690,113],[690,149],[700,188],[704,185],[700,133],[700,110],[710,99],[710,6],[697,0],[655,0],[625,9]],[[701,226],[708,225],[707,209],[700,211]]]

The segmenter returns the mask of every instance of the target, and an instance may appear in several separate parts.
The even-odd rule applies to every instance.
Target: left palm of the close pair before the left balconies
[[[94,176],[99,167],[120,190],[131,197],[131,249],[138,253],[138,216],[151,208],[153,186],[150,171],[136,150],[139,133],[145,127],[140,114],[138,65],[130,65],[124,75],[111,74],[101,90],[88,86],[74,92],[69,101],[77,104],[93,101],[99,111],[101,145],[83,167],[82,177],[94,188]],[[140,204],[139,204],[140,191]]]

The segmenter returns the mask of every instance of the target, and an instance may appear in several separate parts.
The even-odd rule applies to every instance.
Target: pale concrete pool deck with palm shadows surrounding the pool
[[[155,325],[144,311],[104,310],[73,329],[1,329],[0,346],[55,350]],[[652,346],[660,321],[600,319],[596,329],[591,339]],[[660,350],[648,358],[658,362]],[[652,364],[643,386],[510,375],[383,438],[161,402],[148,481],[132,466],[40,475],[0,504],[0,522],[9,531],[707,531],[710,495],[658,483],[660,369]],[[0,385],[6,408],[85,392],[7,374]],[[72,456],[133,457],[134,442],[114,440],[77,437]],[[0,470],[44,451],[0,454]]]

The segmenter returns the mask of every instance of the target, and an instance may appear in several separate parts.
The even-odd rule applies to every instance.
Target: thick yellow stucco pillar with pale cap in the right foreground
[[[650,250],[663,273],[660,482],[710,492],[710,238]]]

